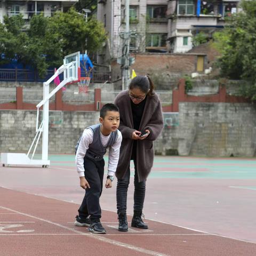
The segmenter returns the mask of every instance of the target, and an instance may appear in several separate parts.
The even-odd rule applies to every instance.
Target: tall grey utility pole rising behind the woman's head
[[[125,0],[125,33],[124,33],[124,89],[128,89],[130,83],[130,0]]]

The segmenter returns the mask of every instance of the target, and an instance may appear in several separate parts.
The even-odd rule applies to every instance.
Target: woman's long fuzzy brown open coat
[[[122,179],[129,168],[132,155],[132,133],[133,128],[132,107],[129,91],[119,93],[115,99],[115,104],[120,110],[120,126],[123,141],[120,148],[119,161],[116,169],[116,177]],[[140,122],[139,131],[150,130],[150,134],[144,140],[137,142],[137,171],[140,181],[145,181],[151,171],[154,162],[153,141],[163,129],[162,106],[158,95],[153,92],[152,97],[146,98],[145,109]]]

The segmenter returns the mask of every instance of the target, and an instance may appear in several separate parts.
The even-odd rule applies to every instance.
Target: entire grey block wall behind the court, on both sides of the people
[[[180,102],[179,125],[165,125],[156,154],[255,156],[256,109],[249,103]],[[74,153],[83,129],[99,112],[50,111],[50,153]],[[35,135],[36,111],[0,110],[0,151],[26,152]],[[41,144],[37,153],[41,151]]]

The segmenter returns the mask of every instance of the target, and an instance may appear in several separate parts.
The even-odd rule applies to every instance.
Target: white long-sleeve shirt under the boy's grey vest
[[[107,145],[110,134],[108,136],[104,136],[102,133],[101,141],[102,145]],[[79,146],[76,152],[76,170],[79,174],[79,177],[84,177],[84,156],[86,154],[87,149],[89,149],[89,145],[93,141],[93,132],[91,129],[85,129],[79,142]],[[116,172],[116,167],[119,159],[119,151],[122,142],[122,134],[119,130],[117,130],[117,139],[114,145],[109,148],[108,151],[108,175],[114,176]]]

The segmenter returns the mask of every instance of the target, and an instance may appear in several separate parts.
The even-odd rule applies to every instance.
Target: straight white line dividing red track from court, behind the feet
[[[5,188],[5,189],[8,189],[8,190],[17,191],[17,192],[25,193],[25,194],[28,194],[28,195],[42,196],[42,197],[54,199],[54,200],[57,200],[57,201],[63,201],[63,202],[67,202],[67,203],[79,205],[79,204],[76,203],[76,202],[71,202],[71,201],[64,200],[64,199],[59,199],[59,198],[54,198],[54,197],[50,197],[50,196],[44,196],[44,195],[39,195],[39,194],[28,193],[28,192],[26,192],[26,191],[15,190],[15,189],[3,187],[3,186],[0,186],[0,188]],[[1,208],[1,206],[0,206],[0,208]],[[101,209],[101,210],[103,210],[103,211],[108,211],[108,212],[111,212],[111,213],[116,213],[116,212],[114,212],[114,211],[110,211],[110,210],[107,210],[107,209]],[[132,216],[132,214],[127,214],[127,215]],[[202,231],[202,230],[198,230],[198,229],[183,227],[183,226],[179,226],[179,225],[176,225],[176,224],[174,224],[174,223],[171,223],[171,222],[164,222],[164,221],[154,220],[154,219],[149,219],[149,218],[147,218],[147,219],[148,219],[148,220],[151,220],[151,221],[155,221],[155,222],[167,224],[167,225],[172,225],[172,226],[178,227],[178,228],[185,228],[185,229],[187,229],[187,230],[197,231],[197,232],[200,232],[200,233],[203,233],[203,234],[207,234],[207,235],[219,236],[219,237],[224,237],[224,238],[228,238],[228,239],[233,239],[233,240],[241,241],[241,242],[245,242],[245,243],[256,244],[256,242],[253,242],[253,241],[249,241],[249,240],[245,240],[245,239],[240,239],[240,238],[234,238],[234,237],[225,236],[225,235],[220,235],[220,234],[209,233],[209,232]]]

